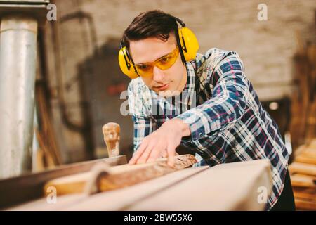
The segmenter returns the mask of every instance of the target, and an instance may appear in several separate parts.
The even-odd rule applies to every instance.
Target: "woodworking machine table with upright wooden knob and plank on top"
[[[192,167],[193,155],[129,165],[119,127],[103,127],[109,158],[0,180],[4,210],[264,210],[272,191],[269,160]]]

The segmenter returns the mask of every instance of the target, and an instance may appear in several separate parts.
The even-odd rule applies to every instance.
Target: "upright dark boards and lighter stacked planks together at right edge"
[[[311,37],[315,37],[315,33]],[[296,89],[291,98],[290,125],[294,162],[289,171],[296,208],[316,210],[316,40],[303,38],[300,32],[296,32],[296,40]]]

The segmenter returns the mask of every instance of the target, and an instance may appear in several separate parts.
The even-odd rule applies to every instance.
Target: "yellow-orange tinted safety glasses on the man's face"
[[[176,47],[171,53],[166,54],[166,56],[162,56],[158,58],[157,60],[154,60],[152,63],[139,63],[136,64],[136,70],[138,72],[138,75],[142,77],[149,77],[152,75],[152,71],[154,70],[154,67],[157,66],[160,70],[167,70],[171,68],[171,66],[176,63],[176,60],[179,55],[179,49]]]

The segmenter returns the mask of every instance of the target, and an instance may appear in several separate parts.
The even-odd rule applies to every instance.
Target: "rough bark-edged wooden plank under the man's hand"
[[[159,158],[155,162],[140,165],[121,165],[111,167],[98,178],[97,188],[99,191],[110,191],[117,188],[124,188],[133,184],[163,176],[178,169],[184,169],[195,164],[197,160],[193,155],[177,155],[175,166],[169,167],[166,158]],[[64,176],[59,179],[48,181],[44,187],[55,187],[58,195],[70,193],[82,193],[91,177],[96,176],[93,171],[72,176]]]

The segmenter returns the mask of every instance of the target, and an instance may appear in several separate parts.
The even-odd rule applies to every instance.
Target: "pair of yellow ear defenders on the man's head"
[[[183,23],[182,20],[174,16],[173,18],[181,25],[181,27],[176,30],[176,40],[180,50],[181,60],[183,63],[194,60],[197,56],[197,50],[199,50],[197,37],[195,37],[192,30],[185,26],[185,23]],[[126,46],[124,46],[123,40],[121,40],[119,49],[119,67],[124,75],[131,79],[139,77],[133,59]]]

